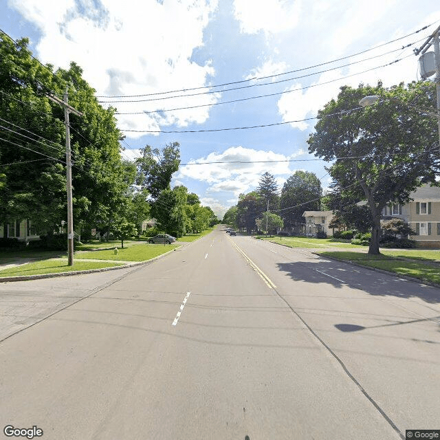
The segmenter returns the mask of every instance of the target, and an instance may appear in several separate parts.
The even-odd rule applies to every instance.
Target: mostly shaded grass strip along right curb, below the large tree
[[[401,252],[395,251],[398,256]],[[421,251],[423,252],[423,251]],[[440,283],[440,270],[433,265],[423,264],[417,261],[403,261],[393,255],[369,255],[360,252],[319,252],[322,256],[330,256],[342,261],[353,261],[366,267],[387,270],[398,275],[413,276],[421,281]]]

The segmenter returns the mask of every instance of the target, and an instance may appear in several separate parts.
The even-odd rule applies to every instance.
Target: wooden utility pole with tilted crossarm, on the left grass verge
[[[48,94],[47,97],[60,104],[64,108],[64,124],[66,126],[66,187],[67,187],[67,259],[68,265],[74,265],[74,212],[72,206],[72,155],[70,153],[70,126],[69,126],[69,112],[78,116],[83,116],[83,113],[74,109],[69,105],[69,96],[67,94],[68,87],[64,93],[64,100]]]

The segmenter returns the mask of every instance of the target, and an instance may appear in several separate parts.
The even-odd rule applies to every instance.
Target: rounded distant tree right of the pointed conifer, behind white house
[[[281,190],[280,212],[285,226],[298,226],[304,221],[304,211],[319,210],[321,196],[321,182],[316,174],[296,171]]]

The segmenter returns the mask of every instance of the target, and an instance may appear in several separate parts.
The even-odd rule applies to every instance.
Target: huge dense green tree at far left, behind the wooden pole
[[[70,116],[74,225],[108,224],[134,181],[120,158],[115,109],[98,104],[75,63],[55,74],[42,66],[27,39],[0,36],[0,58],[0,223],[31,219],[50,234],[67,219],[64,111],[47,97],[67,88],[69,104],[83,112]]]

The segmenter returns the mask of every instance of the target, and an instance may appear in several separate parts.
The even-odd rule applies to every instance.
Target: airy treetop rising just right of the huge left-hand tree
[[[146,188],[153,199],[159,197],[162,190],[170,188],[173,173],[179,169],[179,142],[167,144],[162,151],[146,145],[142,157],[136,159],[137,184]]]

